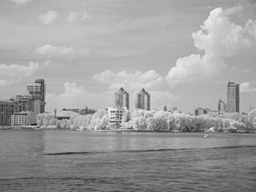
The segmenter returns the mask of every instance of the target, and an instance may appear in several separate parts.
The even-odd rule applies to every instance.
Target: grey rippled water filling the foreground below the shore
[[[0,131],[0,191],[256,191],[256,134]]]

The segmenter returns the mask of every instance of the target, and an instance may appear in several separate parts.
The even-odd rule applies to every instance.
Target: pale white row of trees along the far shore
[[[93,115],[71,116],[70,119],[58,120],[52,113],[37,115],[36,123],[41,129],[70,129],[101,130],[113,129],[109,124],[108,111],[98,110]],[[213,127],[213,128],[212,128]],[[255,129],[256,109],[248,115],[238,113],[225,113],[219,115],[191,116],[184,113],[170,113],[167,111],[134,110],[127,113],[121,129],[134,129],[136,131],[205,131],[207,129],[223,131],[225,129]]]

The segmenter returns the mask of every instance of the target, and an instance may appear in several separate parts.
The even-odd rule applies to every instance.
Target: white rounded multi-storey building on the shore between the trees
[[[127,108],[108,108],[108,116],[110,127],[118,129],[127,120]]]

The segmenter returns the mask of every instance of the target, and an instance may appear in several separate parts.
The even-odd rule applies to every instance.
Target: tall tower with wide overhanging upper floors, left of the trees
[[[28,83],[27,91],[31,95],[31,111],[34,115],[44,113],[46,104],[44,79],[36,79],[35,83]]]

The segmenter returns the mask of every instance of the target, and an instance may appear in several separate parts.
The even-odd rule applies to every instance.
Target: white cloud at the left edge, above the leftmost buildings
[[[30,77],[38,70],[38,63],[30,61],[28,66],[13,64],[0,65],[0,86],[19,84],[20,79]]]

